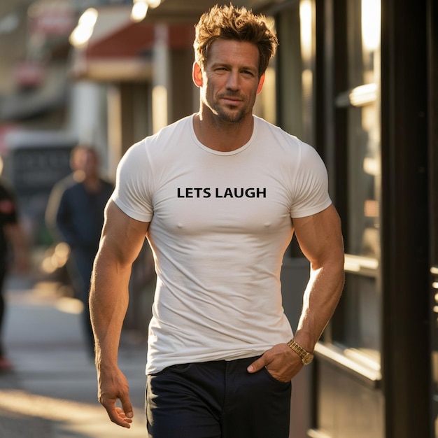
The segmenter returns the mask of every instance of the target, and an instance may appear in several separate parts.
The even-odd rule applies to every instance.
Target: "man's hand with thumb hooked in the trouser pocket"
[[[294,353],[288,344],[277,344],[255,360],[248,367],[248,372],[255,373],[263,367],[266,367],[274,379],[288,382],[298,374],[303,364],[299,355]]]

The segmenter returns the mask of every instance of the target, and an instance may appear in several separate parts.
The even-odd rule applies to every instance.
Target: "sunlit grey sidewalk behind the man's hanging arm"
[[[111,423],[97,402],[96,372],[85,351],[80,306],[51,283],[10,278],[3,339],[13,372],[0,373],[1,438],[144,438],[146,346],[122,341],[134,422]]]

